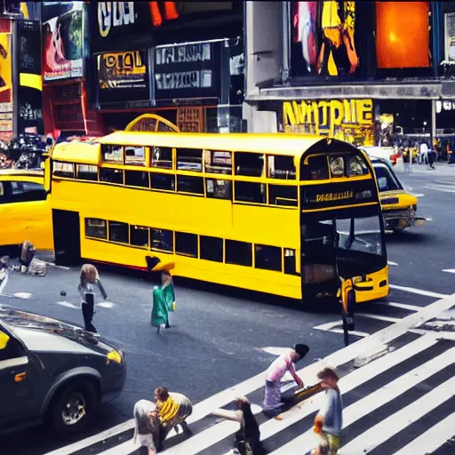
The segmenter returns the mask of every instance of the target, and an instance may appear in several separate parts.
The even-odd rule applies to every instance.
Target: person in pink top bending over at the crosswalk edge
[[[263,412],[275,415],[282,411],[284,403],[281,393],[281,380],[286,371],[291,373],[297,388],[303,387],[302,380],[295,372],[294,363],[305,357],[308,351],[307,345],[296,345],[293,349],[280,355],[267,368]]]

